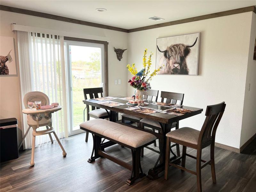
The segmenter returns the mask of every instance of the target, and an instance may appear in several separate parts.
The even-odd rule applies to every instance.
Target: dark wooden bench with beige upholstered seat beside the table
[[[154,143],[156,136],[149,133],[128,127],[122,124],[107,121],[105,119],[93,119],[80,124],[80,129],[91,132],[93,137],[92,156],[89,163],[99,157],[105,157],[116,164],[123,166],[131,171],[130,178],[126,180],[127,185],[132,185],[135,180],[146,176],[142,172],[140,165],[141,148]],[[104,144],[101,138],[109,140]],[[107,154],[104,148],[111,146],[113,143],[120,144],[132,150],[132,165]],[[93,156],[94,153],[94,156]]]

